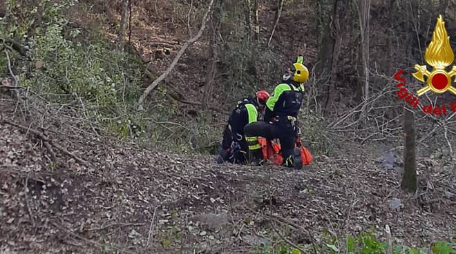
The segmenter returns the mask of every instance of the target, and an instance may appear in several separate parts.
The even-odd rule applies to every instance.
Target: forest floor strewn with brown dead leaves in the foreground
[[[455,166],[441,158],[417,158],[406,195],[400,149],[365,144],[300,171],[218,165],[17,111],[0,101],[0,253],[254,253],[283,238],[310,250],[324,231],[384,240],[386,224],[397,243],[455,236]]]

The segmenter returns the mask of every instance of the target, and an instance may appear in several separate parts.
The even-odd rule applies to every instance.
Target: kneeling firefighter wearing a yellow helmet
[[[296,160],[300,156],[300,150],[295,149],[295,142],[300,133],[298,113],[303,102],[303,83],[307,81],[308,77],[309,71],[303,65],[303,57],[299,56],[283,75],[281,84],[276,86],[274,93],[267,100],[264,121],[256,121],[245,126],[245,136],[247,141],[250,141],[249,155],[254,157],[256,165],[263,164],[260,148],[254,146],[254,144],[258,144],[256,137],[260,136],[269,140],[279,139],[283,166],[302,168],[302,164],[294,165],[294,156],[296,156]]]

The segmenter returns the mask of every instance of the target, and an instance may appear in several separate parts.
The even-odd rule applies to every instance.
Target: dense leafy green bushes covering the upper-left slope
[[[135,102],[144,67],[135,54],[112,46],[101,32],[82,33],[68,26],[66,13],[74,0],[41,0],[32,7],[21,6],[22,1],[8,3],[10,22],[0,22],[5,28],[0,37],[14,37],[27,45],[32,59],[23,61],[12,55],[19,60],[15,68],[20,70],[21,86],[32,88],[48,101],[79,106],[108,135],[142,135],[144,121],[135,114]],[[44,10],[41,23],[35,24],[35,13],[40,10]],[[42,67],[36,68],[37,63]],[[3,69],[0,61],[0,71]]]

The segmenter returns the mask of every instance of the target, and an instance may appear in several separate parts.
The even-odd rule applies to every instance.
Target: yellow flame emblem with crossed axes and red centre
[[[451,86],[451,79],[456,76],[456,66],[447,72],[445,69],[453,63],[455,55],[450,46],[450,37],[445,29],[444,19],[439,15],[437,24],[433,32],[433,39],[430,41],[426,52],[424,53],[424,60],[430,66],[433,66],[432,71],[428,71],[426,66],[419,66],[415,64],[417,72],[413,73],[413,77],[421,82],[424,82],[426,76],[426,84],[424,88],[417,91],[418,96],[424,95],[429,90],[435,93],[443,93],[450,90],[456,95],[456,88]]]

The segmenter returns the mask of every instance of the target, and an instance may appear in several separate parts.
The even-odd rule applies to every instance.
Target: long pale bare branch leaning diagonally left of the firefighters
[[[201,24],[201,28],[200,30],[198,31],[198,34],[189,39],[189,41],[187,41],[186,43],[184,43],[184,45],[182,46],[182,48],[180,48],[178,54],[174,57],[173,61],[171,62],[171,65],[168,66],[167,70],[165,70],[165,72],[162,73],[162,75],[160,75],[160,77],[158,77],[157,79],[155,79],[152,84],[150,84],[146,90],[144,90],[144,93],[141,95],[140,97],[140,100],[138,101],[138,110],[142,111],[144,110],[142,104],[144,103],[144,99],[146,99],[147,95],[149,95],[149,93],[156,87],[158,86],[158,84],[165,78],[169,75],[169,73],[171,73],[171,70],[173,70],[174,66],[178,63],[180,57],[182,57],[182,55],[184,54],[184,51],[187,50],[187,48],[192,44],[194,43],[195,41],[197,41],[198,39],[200,39],[201,35],[202,35],[202,32],[205,30],[206,28],[206,23],[207,21],[209,20],[209,12],[211,11],[211,7],[212,7],[212,4],[213,4],[213,0],[211,0],[211,3],[209,3],[209,7],[207,8],[207,11],[205,13],[205,17],[203,17],[202,19],[202,24]]]

